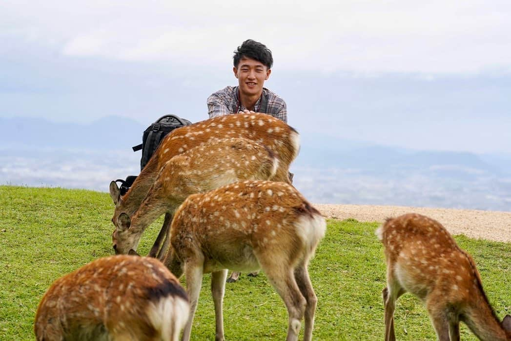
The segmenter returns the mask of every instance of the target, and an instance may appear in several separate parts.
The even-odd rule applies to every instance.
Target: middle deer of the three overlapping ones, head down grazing
[[[144,230],[161,214],[172,215],[190,194],[240,180],[267,180],[275,174],[277,166],[278,159],[271,150],[238,137],[214,139],[174,156],[161,168],[147,196],[131,215],[128,228],[123,228],[125,224],[120,222],[125,215],[119,215],[112,235],[115,252],[136,251]],[[165,254],[168,241],[167,238],[161,255]],[[159,240],[155,245],[158,243]]]

